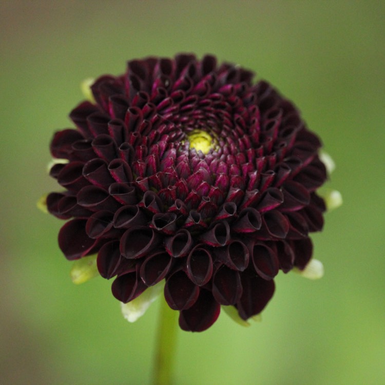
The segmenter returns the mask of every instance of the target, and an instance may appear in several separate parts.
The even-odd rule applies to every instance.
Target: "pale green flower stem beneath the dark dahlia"
[[[161,296],[160,320],[155,353],[154,385],[170,385],[174,367],[175,349],[177,345],[178,312],[171,310]]]

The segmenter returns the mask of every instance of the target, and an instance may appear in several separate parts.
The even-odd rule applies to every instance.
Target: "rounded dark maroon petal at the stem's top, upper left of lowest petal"
[[[200,288],[191,282],[183,271],[166,279],[164,298],[174,310],[188,309],[197,301]]]

